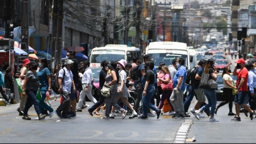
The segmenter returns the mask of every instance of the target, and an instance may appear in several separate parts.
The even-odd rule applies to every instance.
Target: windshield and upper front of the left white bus
[[[102,51],[94,51],[91,54],[91,61],[90,63],[101,63],[102,61],[106,60],[110,61],[119,61],[121,59],[125,59],[125,52],[124,51],[116,51],[116,50],[102,50]]]

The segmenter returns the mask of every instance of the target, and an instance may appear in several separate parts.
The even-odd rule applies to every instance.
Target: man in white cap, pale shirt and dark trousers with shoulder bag
[[[58,92],[62,93],[63,102],[57,108],[55,113],[60,118],[71,118],[68,116],[68,108],[70,104],[71,87],[75,87],[71,71],[73,63],[72,60],[65,60],[65,67],[58,73],[58,85],[60,86]],[[75,92],[75,88],[73,88],[72,92]]]

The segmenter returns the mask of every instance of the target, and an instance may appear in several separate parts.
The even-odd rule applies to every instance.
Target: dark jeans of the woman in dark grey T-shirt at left
[[[36,92],[37,91],[32,91],[32,90],[26,90],[26,94],[27,94],[27,102],[25,105],[25,108],[23,110],[23,116],[28,115],[28,110],[32,107],[32,105],[34,105],[35,111],[37,113],[37,115],[39,116],[41,114],[40,108],[39,108],[39,104],[38,101],[36,99]]]

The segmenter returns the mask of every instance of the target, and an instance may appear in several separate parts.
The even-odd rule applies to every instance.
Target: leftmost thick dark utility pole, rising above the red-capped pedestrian
[[[28,23],[28,0],[23,0],[22,3],[22,43],[21,48],[25,52],[28,53],[28,46],[29,46],[29,23]],[[27,55],[28,56],[28,55]]]

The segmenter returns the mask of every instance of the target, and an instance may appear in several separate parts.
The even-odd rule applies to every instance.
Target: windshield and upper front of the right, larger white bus
[[[154,59],[155,66],[158,66],[159,63],[164,62],[167,66],[172,64],[173,59],[183,57],[185,59],[185,66],[188,67],[188,54],[186,51],[172,51],[172,50],[156,50],[157,53],[154,53],[152,50],[148,51]]]

